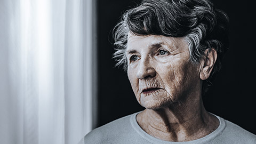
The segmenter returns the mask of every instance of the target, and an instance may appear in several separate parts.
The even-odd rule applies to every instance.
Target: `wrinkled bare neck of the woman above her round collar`
[[[161,109],[145,109],[137,115],[137,122],[148,134],[166,141],[205,137],[217,129],[219,121],[205,110],[202,99],[198,101],[193,105],[176,102]]]

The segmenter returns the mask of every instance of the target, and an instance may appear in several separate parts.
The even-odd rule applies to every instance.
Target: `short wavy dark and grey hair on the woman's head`
[[[228,17],[215,9],[208,0],[144,0],[126,11],[114,28],[116,66],[127,69],[126,46],[128,33],[134,35],[163,35],[185,37],[190,61],[197,65],[206,49],[218,53],[210,78],[203,84],[203,92],[212,84],[228,49]]]

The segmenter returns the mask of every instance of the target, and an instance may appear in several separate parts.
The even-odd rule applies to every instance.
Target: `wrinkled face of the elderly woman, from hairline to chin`
[[[140,105],[158,109],[186,99],[200,87],[182,37],[137,36],[127,42],[128,77]]]

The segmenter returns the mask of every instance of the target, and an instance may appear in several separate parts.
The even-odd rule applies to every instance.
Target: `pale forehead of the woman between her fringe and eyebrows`
[[[146,35],[138,36],[131,33],[127,38],[127,50],[140,49],[141,47],[152,47],[165,45],[170,49],[178,49],[178,47],[187,47],[185,38],[183,37],[166,37],[162,35]]]

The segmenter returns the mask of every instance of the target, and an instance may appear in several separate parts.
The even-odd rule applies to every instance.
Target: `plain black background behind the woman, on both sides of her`
[[[115,67],[111,30],[125,10],[139,4],[131,0],[98,0],[98,124],[133,114],[139,105],[129,79]],[[256,134],[255,31],[253,1],[213,1],[230,20],[230,50],[213,86],[204,97],[206,110]]]

